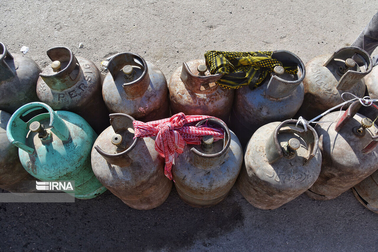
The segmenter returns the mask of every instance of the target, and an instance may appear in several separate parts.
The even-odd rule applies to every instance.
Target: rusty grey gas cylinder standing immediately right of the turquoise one
[[[92,149],[93,172],[129,207],[147,210],[168,197],[172,181],[164,175],[164,159],[155,150],[155,137],[135,138],[130,115],[110,114],[112,126]]]

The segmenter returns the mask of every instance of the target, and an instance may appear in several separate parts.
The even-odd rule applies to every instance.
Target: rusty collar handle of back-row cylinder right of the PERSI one
[[[122,70],[122,68],[124,68],[125,65],[143,68],[143,73],[138,79],[122,84],[122,87],[129,98],[139,97],[146,92],[150,85],[147,62],[142,58],[142,56],[136,53],[124,52],[116,54],[112,59],[110,59],[107,66],[110,75],[112,75],[113,81],[115,81],[117,74]]]

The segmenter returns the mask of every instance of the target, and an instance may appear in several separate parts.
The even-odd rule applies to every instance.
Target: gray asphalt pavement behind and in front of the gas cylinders
[[[57,45],[98,67],[112,54],[132,51],[169,81],[183,61],[203,58],[206,50],[285,49],[304,62],[332,53],[352,44],[376,6],[364,0],[1,0],[0,41],[11,53],[29,47],[26,55],[42,68],[50,62],[45,51]],[[0,251],[378,251],[377,231],[378,215],[350,190],[332,201],[301,195],[271,211],[254,208],[235,187],[210,208],[189,207],[175,189],[144,212],[108,191],[74,203],[0,204]]]

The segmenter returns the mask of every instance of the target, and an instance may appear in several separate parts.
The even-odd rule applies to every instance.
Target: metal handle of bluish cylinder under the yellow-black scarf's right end
[[[299,70],[297,75],[294,75],[293,81],[288,81],[281,78],[280,75],[273,74],[270,78],[268,86],[266,87],[266,95],[273,98],[284,98],[294,92],[294,89],[301,84],[306,75],[306,68],[303,61],[294,53],[287,50],[273,51],[272,58],[282,62],[282,65],[298,65]]]

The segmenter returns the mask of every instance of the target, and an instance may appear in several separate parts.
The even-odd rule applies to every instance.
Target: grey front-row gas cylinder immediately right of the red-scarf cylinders
[[[257,208],[280,207],[304,193],[319,176],[318,134],[308,124],[306,128],[296,124],[297,120],[268,123],[248,142],[236,186]]]

